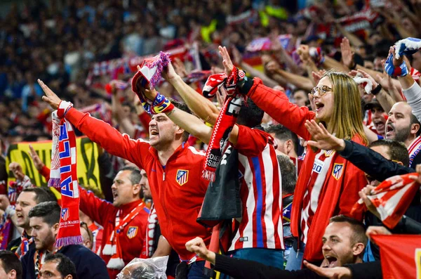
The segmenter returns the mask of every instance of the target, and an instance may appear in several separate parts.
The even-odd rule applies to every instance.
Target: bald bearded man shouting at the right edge
[[[395,103],[386,121],[386,138],[401,141],[408,148],[409,167],[421,163],[420,122],[406,102]]]

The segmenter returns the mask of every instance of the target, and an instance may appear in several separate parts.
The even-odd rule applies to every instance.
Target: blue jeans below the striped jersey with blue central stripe
[[[283,250],[267,249],[267,248],[244,248],[228,252],[227,256],[236,259],[248,259],[249,261],[257,261],[265,266],[273,266],[283,269]],[[228,275],[220,275],[220,279],[227,279]]]

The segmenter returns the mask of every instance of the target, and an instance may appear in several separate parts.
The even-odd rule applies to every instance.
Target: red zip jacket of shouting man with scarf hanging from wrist
[[[195,254],[188,252],[185,247],[188,240],[199,236],[208,245],[210,229],[196,222],[208,187],[208,181],[201,178],[205,153],[190,147],[188,143],[183,143],[163,167],[156,150],[146,141],[133,140],[126,134],[121,135],[109,124],[74,108],[71,108],[65,117],[107,152],[145,169],[156,214],[161,223],[161,233],[179,254],[180,259],[186,261],[195,257]]]

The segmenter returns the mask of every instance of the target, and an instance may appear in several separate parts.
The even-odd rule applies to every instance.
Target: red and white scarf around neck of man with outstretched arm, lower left
[[[132,211],[127,214],[121,222],[120,216],[123,214],[123,210],[120,209],[117,212],[114,231],[112,231],[107,244],[105,245],[104,249],[102,249],[102,254],[111,256],[111,259],[108,261],[107,268],[121,269],[124,267],[123,254],[121,253],[119,242],[119,233],[124,230],[124,228],[135,218],[135,216],[138,216],[144,207],[145,204],[140,202],[139,205],[133,208]]]

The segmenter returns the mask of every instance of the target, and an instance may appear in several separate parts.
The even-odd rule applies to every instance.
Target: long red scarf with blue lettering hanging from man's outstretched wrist
[[[62,110],[69,109],[69,103],[62,101],[58,108],[58,112],[53,112],[53,123],[56,122],[58,115],[64,115]],[[57,131],[54,131],[53,137],[57,136]],[[60,173],[60,188],[61,188],[61,214],[60,214],[60,228],[58,229],[57,240],[55,245],[65,246],[72,244],[81,244],[83,239],[81,236],[81,228],[79,221],[79,186],[76,174],[76,136],[72,124],[65,118],[60,120],[60,136],[58,138],[58,153],[53,146],[53,155],[51,160],[57,160],[57,155],[60,162],[60,167],[57,169],[51,168],[50,181],[48,185],[54,184],[57,181],[57,174]],[[53,145],[55,141],[53,139]],[[53,163],[52,163],[53,165]],[[54,181],[55,180],[55,181]],[[51,183],[52,182],[52,183]]]

